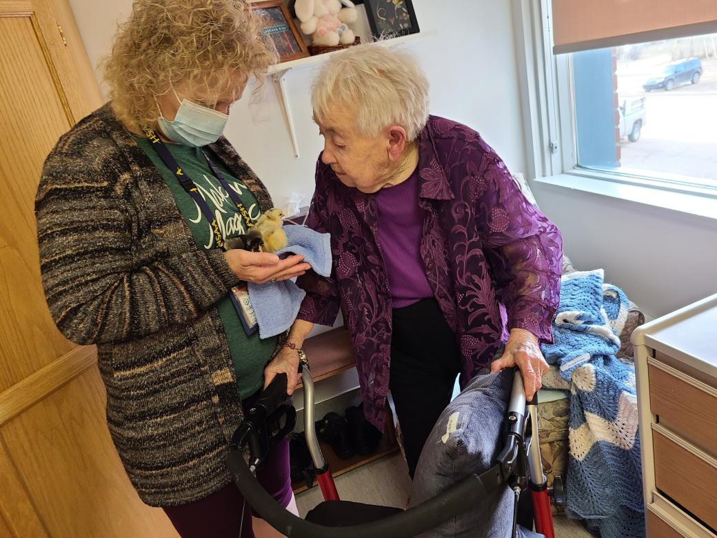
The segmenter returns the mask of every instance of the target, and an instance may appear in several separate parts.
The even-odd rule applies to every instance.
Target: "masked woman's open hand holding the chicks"
[[[227,250],[224,258],[239,280],[257,284],[288,280],[303,275],[311,268],[308,263],[303,263],[304,257],[300,255],[280,260],[275,254],[252,253],[249,250],[234,248]]]

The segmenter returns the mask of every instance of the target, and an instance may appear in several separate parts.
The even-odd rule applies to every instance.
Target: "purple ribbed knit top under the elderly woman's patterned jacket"
[[[403,308],[432,297],[419,250],[426,212],[418,203],[418,167],[396,187],[379,190],[376,202],[379,247],[389,275],[391,306]]]

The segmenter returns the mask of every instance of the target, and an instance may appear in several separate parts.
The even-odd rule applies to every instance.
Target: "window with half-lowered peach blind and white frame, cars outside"
[[[518,5],[528,174],[665,207],[680,199],[685,211],[694,203],[713,214],[717,3]]]

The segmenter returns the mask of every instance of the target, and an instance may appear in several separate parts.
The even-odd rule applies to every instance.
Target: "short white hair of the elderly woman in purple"
[[[378,136],[393,125],[415,140],[428,121],[429,83],[408,52],[361,44],[329,58],[314,80],[311,105],[320,123],[332,107],[353,112],[361,136]]]

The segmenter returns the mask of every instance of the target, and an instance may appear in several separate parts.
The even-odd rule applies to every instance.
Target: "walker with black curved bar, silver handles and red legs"
[[[337,527],[341,527],[342,538],[415,537],[475,508],[491,492],[507,484],[516,492],[516,506],[520,492],[526,487],[530,489],[536,532],[554,538],[550,492],[546,487],[537,440],[537,397],[526,402],[523,378],[518,369],[505,417],[504,446],[495,465],[480,475],[463,478],[447,491],[407,510],[339,500],[331,470],[316,438],[313,378],[305,362],[301,365],[301,379],[306,441],[324,498],[306,519],[278,504],[255,476],[272,443],[288,435],[295,425],[296,411],[286,402],[286,374],[277,375],[262,392],[234,433],[229,450],[228,466],[234,483],[250,506],[277,531],[290,538],[335,538]],[[536,433],[535,438],[526,435],[528,425]],[[250,453],[249,463],[243,456],[245,449]],[[555,500],[560,502],[559,477],[555,482]],[[513,535],[516,533],[515,520],[514,515]]]

